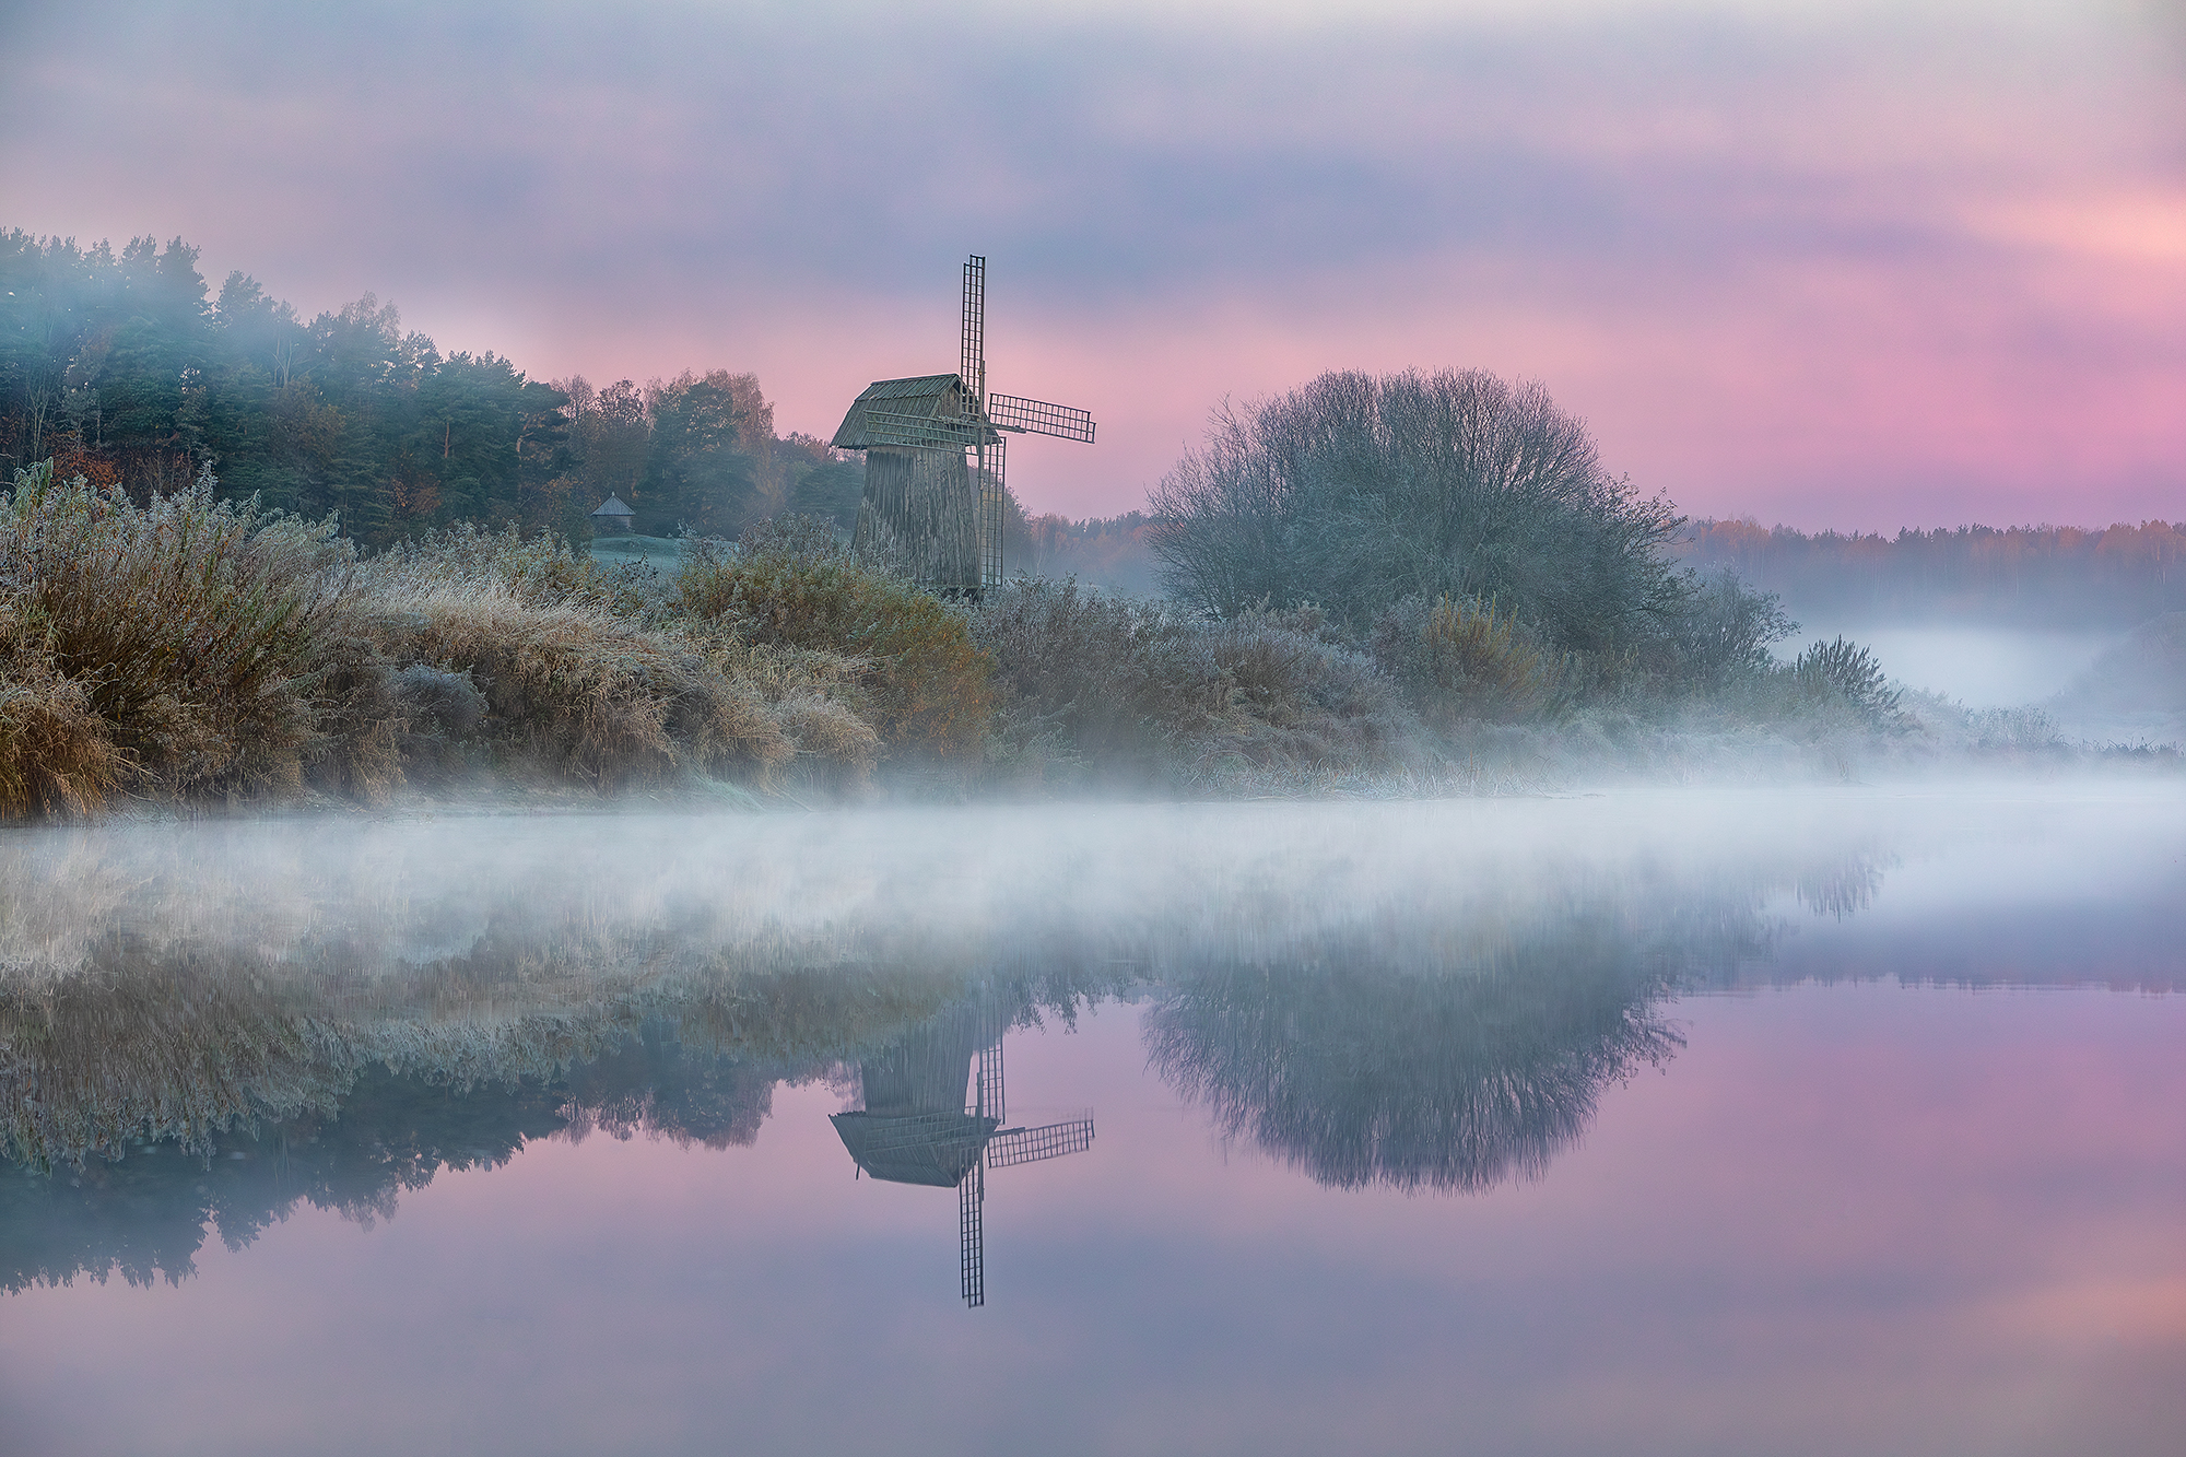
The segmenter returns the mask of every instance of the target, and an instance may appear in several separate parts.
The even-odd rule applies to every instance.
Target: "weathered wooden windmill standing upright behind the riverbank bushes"
[[[866,453],[857,549],[901,558],[940,591],[997,586],[1006,431],[1093,444],[1093,416],[986,392],[986,258],[975,254],[964,263],[957,372],[874,381],[835,431],[837,451]]]

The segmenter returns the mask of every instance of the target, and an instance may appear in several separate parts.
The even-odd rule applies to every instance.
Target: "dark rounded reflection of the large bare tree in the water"
[[[1683,1046],[1613,923],[1447,974],[1375,963],[1189,978],[1145,1013],[1154,1068],[1320,1184],[1471,1192],[1539,1177],[1605,1085]]]

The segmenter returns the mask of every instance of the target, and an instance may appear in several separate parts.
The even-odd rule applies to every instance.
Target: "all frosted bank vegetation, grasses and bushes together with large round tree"
[[[46,462],[0,497],[0,814],[2175,764],[1911,693],[1843,639],[1779,663],[1782,604],[1679,569],[1670,503],[1539,387],[1329,374],[1220,413],[1152,508],[1167,599],[955,604],[815,516],[614,564],[466,523],[365,553],[210,470],[133,499]]]

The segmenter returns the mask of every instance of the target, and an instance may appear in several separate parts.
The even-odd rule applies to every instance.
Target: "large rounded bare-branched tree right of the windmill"
[[[1668,501],[1611,477],[1539,385],[1478,370],[1323,374],[1222,409],[1150,503],[1170,591],[1224,615],[1325,602],[1364,626],[1403,597],[1493,597],[1600,650],[1677,606]]]

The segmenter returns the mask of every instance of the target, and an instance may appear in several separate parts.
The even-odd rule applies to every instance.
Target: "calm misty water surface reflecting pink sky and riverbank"
[[[0,1450],[2175,1453],[2182,812],[0,838]]]

